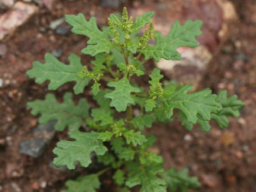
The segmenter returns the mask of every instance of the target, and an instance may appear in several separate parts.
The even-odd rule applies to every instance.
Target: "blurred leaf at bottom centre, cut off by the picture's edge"
[[[140,192],[166,192],[165,180],[156,176],[164,171],[162,167],[129,162],[126,168],[129,174],[125,184],[129,188],[141,185]]]

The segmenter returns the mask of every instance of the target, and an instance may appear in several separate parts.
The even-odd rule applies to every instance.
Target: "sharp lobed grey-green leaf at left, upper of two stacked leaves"
[[[80,78],[76,74],[83,68],[81,59],[75,54],[68,57],[70,65],[61,63],[51,53],[46,53],[44,56],[45,64],[35,61],[33,68],[27,71],[30,78],[34,78],[36,83],[42,84],[49,80],[49,90],[56,90],[61,85],[67,82],[76,82],[73,87],[75,94],[83,93],[84,87],[91,81],[90,78]]]

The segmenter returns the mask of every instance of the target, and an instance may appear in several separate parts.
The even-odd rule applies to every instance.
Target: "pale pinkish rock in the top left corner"
[[[3,40],[7,35],[11,36],[37,11],[36,5],[16,2],[9,11],[0,16],[0,40]]]

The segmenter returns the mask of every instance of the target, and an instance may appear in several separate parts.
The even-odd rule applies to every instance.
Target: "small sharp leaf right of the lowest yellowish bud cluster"
[[[138,144],[142,145],[144,142],[147,141],[145,138],[145,135],[141,135],[141,132],[133,132],[133,130],[130,130],[128,132],[124,133],[124,138],[126,139],[126,143],[129,145],[132,143],[134,147],[136,147]]]

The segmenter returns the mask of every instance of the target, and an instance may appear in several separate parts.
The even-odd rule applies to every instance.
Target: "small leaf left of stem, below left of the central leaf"
[[[101,121],[100,126],[114,123],[113,116],[111,116],[110,111],[107,112],[101,108],[92,109],[91,115],[94,117],[94,121]]]

